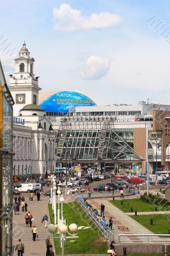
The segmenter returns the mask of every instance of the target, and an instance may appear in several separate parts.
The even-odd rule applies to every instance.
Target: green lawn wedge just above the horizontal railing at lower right
[[[170,225],[168,216],[169,214],[155,214],[130,217],[155,234],[169,234]],[[153,225],[150,225],[151,218],[153,219]]]

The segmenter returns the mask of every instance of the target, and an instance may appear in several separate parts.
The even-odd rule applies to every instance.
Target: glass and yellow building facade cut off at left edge
[[[0,250],[1,255],[13,255],[12,212],[12,134],[13,134],[13,98],[6,85],[0,61]]]

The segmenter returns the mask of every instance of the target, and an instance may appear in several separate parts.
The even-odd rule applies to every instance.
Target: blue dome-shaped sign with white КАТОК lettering
[[[46,112],[68,113],[77,106],[97,106],[93,100],[78,92],[56,92],[43,100],[40,107]]]

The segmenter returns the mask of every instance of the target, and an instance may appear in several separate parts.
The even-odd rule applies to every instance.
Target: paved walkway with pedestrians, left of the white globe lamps
[[[31,212],[33,215],[33,218],[35,221],[33,222],[33,225],[36,225],[38,229],[38,239],[34,242],[32,239],[32,233],[31,233],[31,227],[26,227],[26,221],[24,216],[26,215],[26,212],[19,212],[19,215],[15,215],[13,211],[13,244],[15,245],[19,238],[21,238],[22,242],[24,243],[25,247],[25,253],[24,255],[31,256],[43,256],[46,254],[46,245],[45,245],[45,239],[47,236],[49,236],[49,232],[47,228],[44,228],[44,225],[42,224],[42,217],[45,213],[48,213],[47,204],[49,202],[49,196],[43,196],[45,193],[45,190],[47,188],[44,188],[44,191],[42,191],[41,199],[40,201],[36,200],[36,196],[33,198],[33,202],[29,202],[28,195],[29,193],[22,193],[24,195],[25,200],[28,204],[28,211]],[[33,226],[32,225],[32,226]],[[14,253],[14,255],[17,255],[17,252]]]

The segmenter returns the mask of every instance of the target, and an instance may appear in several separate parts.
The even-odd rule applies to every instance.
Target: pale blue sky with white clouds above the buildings
[[[81,92],[98,105],[170,104],[169,14],[169,0],[3,1],[6,79],[26,40],[43,92]]]

